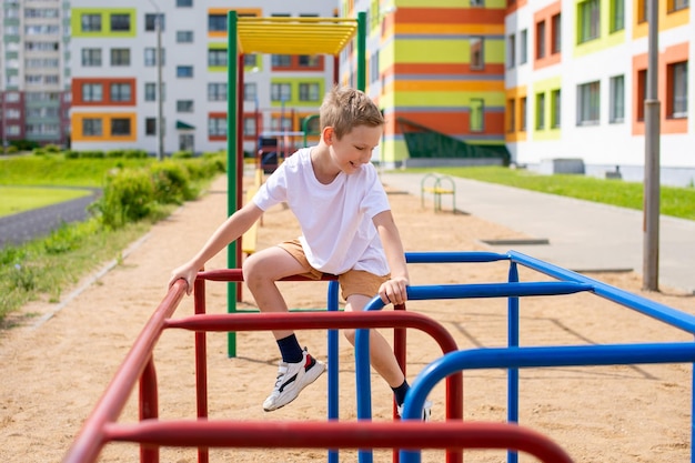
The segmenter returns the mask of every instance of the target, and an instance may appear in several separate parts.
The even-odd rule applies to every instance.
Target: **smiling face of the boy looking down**
[[[362,164],[370,162],[372,151],[381,141],[383,133],[382,125],[357,125],[339,140],[333,130],[330,130],[331,133],[326,141],[331,150],[331,158],[346,174],[356,172]]]

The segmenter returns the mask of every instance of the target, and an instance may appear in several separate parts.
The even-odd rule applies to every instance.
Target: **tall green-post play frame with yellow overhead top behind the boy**
[[[235,10],[228,12],[228,107],[226,107],[226,177],[228,217],[242,207],[243,177],[243,89],[245,53],[331,54],[333,83],[339,81],[339,53],[356,40],[356,87],[366,87],[366,13],[350,18],[250,18]],[[228,266],[241,268],[241,239],[226,250]],[[228,312],[236,311],[239,283],[228,283]],[[234,356],[236,338],[229,334],[229,355]]]

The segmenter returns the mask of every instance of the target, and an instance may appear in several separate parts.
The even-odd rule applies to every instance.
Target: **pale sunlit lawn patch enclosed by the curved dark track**
[[[89,190],[0,185],[0,217],[17,214],[91,194]]]

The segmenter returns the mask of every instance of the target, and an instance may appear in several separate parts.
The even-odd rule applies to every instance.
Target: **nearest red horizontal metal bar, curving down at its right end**
[[[508,423],[148,421],[110,424],[108,437],[149,445],[286,449],[497,449],[572,463],[555,442]]]

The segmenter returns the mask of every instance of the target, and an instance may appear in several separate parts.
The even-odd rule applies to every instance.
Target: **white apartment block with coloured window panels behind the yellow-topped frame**
[[[104,0],[71,2],[72,148],[159,152],[158,27],[164,155],[226,148],[228,11],[240,17],[332,17],[322,0]],[[158,22],[161,18],[161,22]],[[318,113],[333,62],[244,54],[244,151],[266,132],[299,131]],[[300,144],[302,140],[295,140]]]

